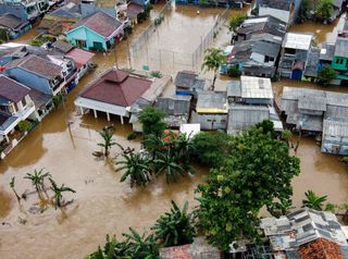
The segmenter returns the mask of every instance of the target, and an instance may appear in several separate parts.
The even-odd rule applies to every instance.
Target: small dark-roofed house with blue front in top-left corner
[[[9,39],[15,39],[28,32],[32,28],[32,25],[29,22],[22,21],[13,14],[5,13],[0,16],[0,28],[8,32]]]

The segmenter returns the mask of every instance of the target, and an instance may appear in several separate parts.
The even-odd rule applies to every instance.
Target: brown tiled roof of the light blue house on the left
[[[61,67],[59,65],[34,54],[26,57],[18,66],[48,79],[53,79],[61,75]]]

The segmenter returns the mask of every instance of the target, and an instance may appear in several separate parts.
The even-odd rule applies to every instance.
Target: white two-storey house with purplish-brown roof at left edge
[[[0,136],[10,141],[10,135],[21,121],[35,112],[30,88],[0,75]]]

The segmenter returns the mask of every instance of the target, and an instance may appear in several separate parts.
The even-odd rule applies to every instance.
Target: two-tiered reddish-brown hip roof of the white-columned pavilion
[[[150,88],[151,84],[151,81],[129,75],[128,72],[111,70],[80,96],[110,104],[129,107]]]

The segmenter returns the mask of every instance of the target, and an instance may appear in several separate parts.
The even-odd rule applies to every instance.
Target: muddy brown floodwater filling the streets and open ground
[[[112,1],[109,1],[110,5]],[[158,12],[161,7],[156,7]],[[197,8],[179,7],[173,10],[171,21],[163,22],[160,32],[166,35],[173,30],[172,38],[161,38],[166,49],[175,49],[175,42],[182,40],[177,34],[179,23],[183,29],[198,22],[211,24],[219,12],[223,10],[201,9],[197,17]],[[248,11],[247,9],[244,10]],[[236,12],[233,11],[232,15]],[[202,18],[203,17],[203,18]],[[122,41],[116,48],[116,60],[120,66],[128,65],[128,45],[147,26],[140,24],[128,41]],[[176,27],[175,27],[176,26]],[[302,25],[304,26],[304,25]],[[313,24],[313,27],[318,26]],[[201,26],[201,33],[207,27]],[[172,29],[172,30],[171,30]],[[196,48],[200,34],[192,34],[191,41],[185,41],[186,51]],[[37,33],[30,32],[21,37],[18,42],[27,42]],[[165,35],[163,33],[163,35]],[[154,36],[157,37],[157,36]],[[190,37],[190,36],[186,36]],[[228,45],[231,35],[222,28],[214,46]],[[153,42],[156,44],[156,42]],[[191,45],[191,49],[189,48]],[[203,182],[208,170],[197,168],[194,176],[181,178],[178,183],[166,185],[163,178],[157,178],[146,188],[130,189],[128,183],[120,183],[121,173],[115,173],[112,161],[98,161],[91,152],[98,150],[100,140],[98,131],[109,124],[107,118],[99,114],[96,120],[92,114],[80,118],[75,111],[73,101],[79,90],[104,70],[115,65],[113,53],[98,53],[94,59],[99,66],[85,76],[79,85],[66,98],[64,104],[50,113],[44,121],[7,157],[0,162],[0,258],[5,259],[78,259],[88,255],[103,244],[107,233],[116,234],[127,231],[129,226],[139,230],[149,230],[154,221],[170,208],[171,200],[183,205],[186,200],[194,207],[194,189]],[[173,72],[171,73],[173,74]],[[212,77],[210,73],[203,76]],[[226,77],[217,81],[216,89],[224,89]],[[302,83],[281,82],[274,85],[278,96],[284,85],[300,86]],[[311,85],[304,85],[313,87]],[[335,88],[335,90],[346,90]],[[128,141],[130,125],[121,125],[117,118],[112,118],[116,127],[114,138],[124,147],[139,148],[138,141]],[[67,126],[70,125],[70,126]],[[112,149],[116,153],[117,148]],[[330,201],[344,202],[348,196],[348,174],[345,164],[339,163],[334,156],[322,155],[312,139],[302,139],[298,149],[301,158],[301,175],[294,180],[295,205],[299,206],[307,189],[313,189],[321,195],[327,194]],[[48,209],[44,213],[34,213],[30,207],[37,198],[28,195],[27,201],[17,205],[9,183],[12,176],[16,178],[16,190],[22,194],[33,189],[30,183],[23,176],[35,169],[45,168],[53,175],[58,183],[64,183],[76,190],[67,195],[74,199],[64,211]]]

